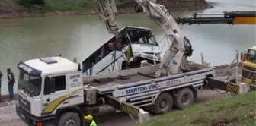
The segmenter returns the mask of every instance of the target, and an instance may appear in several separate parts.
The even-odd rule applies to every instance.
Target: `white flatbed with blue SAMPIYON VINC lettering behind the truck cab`
[[[104,75],[99,74],[98,77],[91,78],[90,82],[85,83],[85,87],[87,84],[90,84],[97,89],[99,94],[110,93],[112,96],[120,98],[137,95],[139,93],[186,87],[187,85],[195,85],[198,87],[199,85],[203,85],[203,80],[207,75],[214,74],[213,68],[199,64],[194,64],[193,71],[159,78],[153,77],[150,73],[146,73],[146,70],[146,67],[140,69],[136,68],[136,71],[125,70],[126,73],[129,73],[126,75],[122,72]],[[85,77],[85,80],[86,78],[89,77]]]

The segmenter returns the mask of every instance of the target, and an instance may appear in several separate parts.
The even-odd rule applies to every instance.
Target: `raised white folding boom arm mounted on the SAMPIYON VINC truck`
[[[101,9],[99,14],[105,21],[109,33],[116,33],[117,24],[115,16],[117,15],[117,8],[114,0],[93,0],[95,7],[98,5]],[[184,37],[181,28],[178,26],[171,14],[163,5],[155,3],[155,0],[135,0],[135,11],[143,11],[150,19],[154,20],[156,24],[162,27],[165,32],[167,40],[171,43],[169,49],[165,52],[162,58],[160,67],[156,71],[158,77],[168,74],[178,74],[182,71],[187,71],[187,56],[192,55],[193,49],[189,40]]]

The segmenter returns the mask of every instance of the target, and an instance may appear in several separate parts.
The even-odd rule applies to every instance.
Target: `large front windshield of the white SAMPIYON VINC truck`
[[[42,78],[30,76],[29,74],[20,71],[18,88],[24,90],[29,96],[39,96],[41,91]]]

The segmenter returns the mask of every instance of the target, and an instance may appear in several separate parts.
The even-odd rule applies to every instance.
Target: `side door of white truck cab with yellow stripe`
[[[69,106],[67,74],[57,74],[49,77],[55,79],[55,92],[51,93],[49,87],[43,87],[42,115],[50,115],[60,107]]]

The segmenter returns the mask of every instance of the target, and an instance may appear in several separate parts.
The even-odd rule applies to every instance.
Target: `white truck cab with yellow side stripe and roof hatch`
[[[18,64],[17,113],[30,124],[56,110],[84,102],[80,66],[62,57],[37,58]],[[49,119],[48,118],[48,119]],[[44,118],[45,119],[45,118]]]

